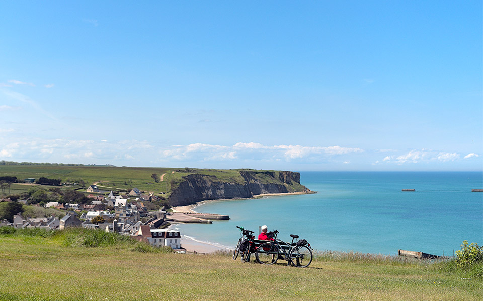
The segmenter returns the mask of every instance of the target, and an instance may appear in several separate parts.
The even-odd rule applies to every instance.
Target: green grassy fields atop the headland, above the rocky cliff
[[[246,179],[243,173],[251,173],[262,184],[283,184],[288,191],[302,191],[304,187],[297,181],[287,183],[281,179],[280,171],[256,171],[251,169],[217,170],[191,168],[145,168],[145,167],[112,167],[112,166],[48,166],[48,165],[0,165],[0,176],[16,176],[25,178],[55,178],[63,182],[80,183],[73,188],[87,188],[97,183],[101,190],[128,191],[134,187],[143,191],[168,198],[171,192],[178,188],[184,177],[188,175],[203,175],[212,182],[225,182],[243,185]],[[151,177],[159,178],[154,181]],[[27,191],[29,186],[12,184],[10,193]]]

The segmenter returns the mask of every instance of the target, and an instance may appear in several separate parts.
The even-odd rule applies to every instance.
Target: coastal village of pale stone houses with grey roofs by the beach
[[[14,228],[41,228],[47,230],[62,230],[67,227],[82,227],[88,229],[101,229],[106,232],[115,232],[128,235],[136,240],[144,241],[155,247],[170,247],[175,252],[185,253],[181,245],[179,231],[167,228],[170,222],[211,223],[210,219],[228,219],[228,216],[167,212],[166,208],[158,211],[148,211],[144,202],[151,202],[158,198],[152,193],[133,188],[127,194],[115,195],[112,191],[107,196],[101,195],[97,185],[90,185],[87,193],[91,204],[48,202],[45,208],[56,208],[65,211],[65,216],[28,218],[22,214],[14,215],[13,222],[4,219],[1,226]],[[11,202],[10,199],[2,199]],[[27,204],[26,200],[19,200]],[[38,205],[37,205],[38,206]]]

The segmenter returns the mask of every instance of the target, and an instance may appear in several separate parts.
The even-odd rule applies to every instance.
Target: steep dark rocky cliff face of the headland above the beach
[[[204,200],[251,198],[264,193],[310,192],[300,184],[300,173],[283,171],[240,171],[243,181],[220,181],[214,176],[192,174],[174,189],[172,206],[185,206]]]

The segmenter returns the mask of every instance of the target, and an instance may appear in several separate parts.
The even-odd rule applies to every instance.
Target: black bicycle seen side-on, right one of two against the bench
[[[287,243],[277,238],[278,231],[269,232],[271,241],[262,243],[255,252],[258,262],[271,265],[279,258],[287,260],[288,265],[307,267],[312,263],[312,249],[305,239],[298,240],[298,235],[290,234],[292,242]],[[273,237],[270,237],[273,236]],[[296,241],[294,241],[297,239]]]

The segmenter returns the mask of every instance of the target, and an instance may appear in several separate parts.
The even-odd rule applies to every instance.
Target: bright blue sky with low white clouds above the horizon
[[[0,160],[483,168],[480,1],[0,11]]]

